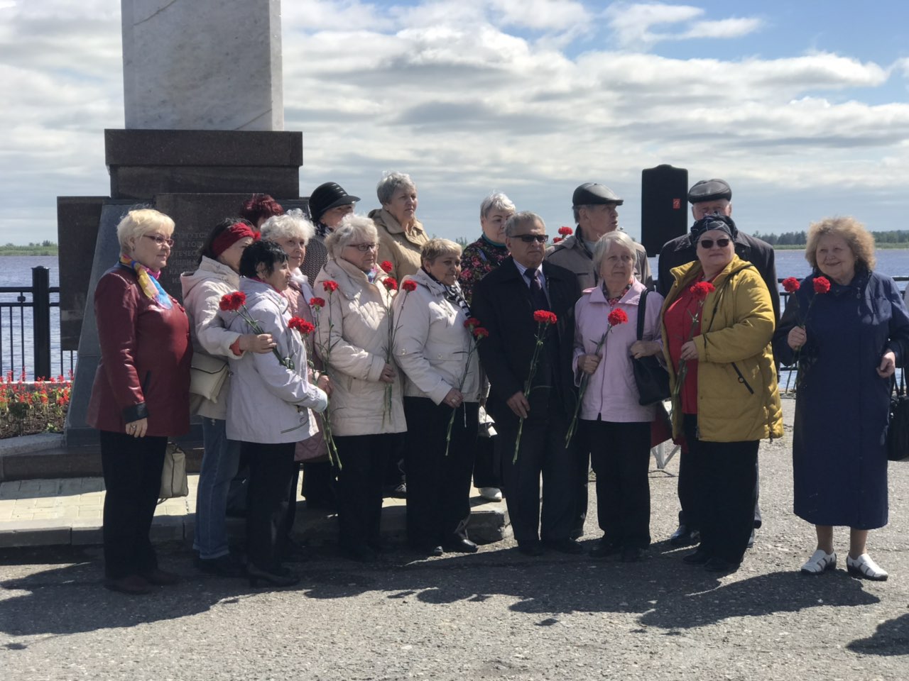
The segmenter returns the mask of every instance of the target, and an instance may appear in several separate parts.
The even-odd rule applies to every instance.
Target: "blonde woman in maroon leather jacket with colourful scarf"
[[[168,436],[189,429],[189,320],[157,281],[174,221],[131,211],[116,228],[120,261],[95,289],[101,360],[88,423],[101,431],[105,475],[105,587],[145,594],[175,584],[148,538]]]

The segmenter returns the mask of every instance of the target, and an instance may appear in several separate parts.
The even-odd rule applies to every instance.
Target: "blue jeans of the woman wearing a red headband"
[[[240,443],[227,439],[223,419],[202,419],[205,453],[195,497],[195,538],[199,558],[220,558],[227,546],[227,492],[240,461]]]

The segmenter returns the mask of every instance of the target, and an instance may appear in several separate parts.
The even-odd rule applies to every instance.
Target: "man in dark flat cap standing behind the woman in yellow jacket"
[[[694,186],[688,191],[688,202],[691,203],[694,222],[711,214],[732,217],[732,199],[733,191],[729,184],[719,179],[701,180],[699,183],[694,183]],[[774,315],[778,321],[780,319],[780,297],[777,294],[779,288],[776,283],[773,246],[738,230],[733,234],[733,242],[735,254],[742,260],[751,262],[754,269],[761,275],[761,279],[767,284],[767,290],[771,293],[770,299],[774,304]],[[696,259],[695,244],[692,242],[690,234],[684,234],[666,242],[660,250],[660,260],[656,266],[658,272],[656,291],[665,297],[674,283],[672,269]],[[669,542],[678,547],[696,544],[700,535],[696,527],[697,520],[692,518],[690,510],[693,508],[691,495],[694,493],[694,488],[691,479],[685,474],[685,468],[683,454],[679,459],[678,479],[679,503],[682,510],[679,511],[679,527],[669,538]],[[756,491],[755,489],[754,498],[757,498]],[[761,509],[756,503],[754,504],[754,527],[761,527]]]

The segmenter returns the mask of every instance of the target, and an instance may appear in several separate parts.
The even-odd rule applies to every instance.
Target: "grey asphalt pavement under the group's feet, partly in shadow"
[[[791,424],[792,402],[786,400]],[[362,565],[316,546],[297,587],[268,590],[192,567],[159,545],[176,587],[100,586],[96,546],[0,550],[3,679],[874,679],[909,678],[909,464],[890,466],[890,524],[869,552],[883,583],[840,567],[803,577],[813,529],[792,514],[791,429],[761,447],[764,527],[735,573],[669,546],[677,459],[652,469],[654,544],[640,563],[547,553],[514,540]],[[592,488],[593,492],[593,488]],[[584,542],[592,545],[595,494]]]

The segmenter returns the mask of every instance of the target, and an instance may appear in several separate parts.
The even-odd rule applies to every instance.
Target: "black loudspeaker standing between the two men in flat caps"
[[[647,255],[688,231],[688,171],[671,165],[641,172],[641,243]]]

